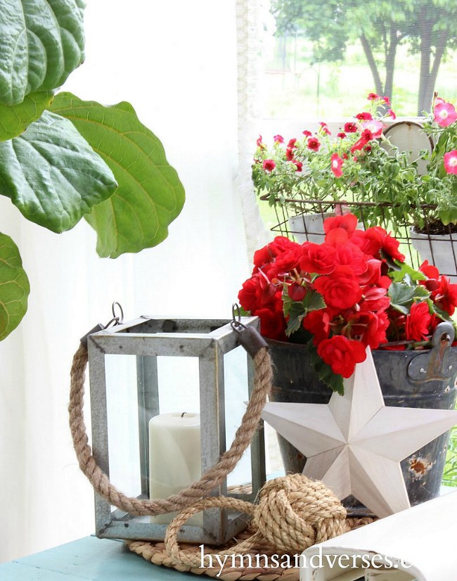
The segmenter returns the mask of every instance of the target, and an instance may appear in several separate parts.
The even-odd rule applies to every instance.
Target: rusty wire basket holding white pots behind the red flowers
[[[401,245],[401,252],[406,262],[418,268],[424,260],[434,264],[440,274],[449,276],[452,283],[457,283],[457,229],[450,224],[445,227],[445,234],[436,234],[434,224],[429,219],[432,205],[420,205],[424,226],[416,233],[412,222],[404,220],[399,223],[392,216],[392,203],[345,200],[305,200],[300,198],[282,198],[271,200],[269,194],[260,196],[262,201],[269,202],[276,214],[276,224],[271,231],[287,236],[298,243],[324,241],[323,220],[326,217],[352,212],[359,218],[359,228],[382,226]],[[373,215],[375,219],[373,220]],[[368,219],[370,216],[370,219]]]

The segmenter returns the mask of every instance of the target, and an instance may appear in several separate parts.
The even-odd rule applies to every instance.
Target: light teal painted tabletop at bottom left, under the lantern
[[[155,566],[122,541],[85,537],[0,563],[1,581],[190,581],[191,573]]]

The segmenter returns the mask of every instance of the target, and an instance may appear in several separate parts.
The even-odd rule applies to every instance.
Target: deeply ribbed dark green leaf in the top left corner
[[[0,102],[60,87],[84,60],[83,0],[0,0]]]

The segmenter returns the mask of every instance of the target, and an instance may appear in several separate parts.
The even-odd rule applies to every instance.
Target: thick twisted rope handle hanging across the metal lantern
[[[115,303],[117,304],[117,303]],[[114,315],[114,305],[113,305]],[[119,318],[113,316],[111,323],[119,322]],[[70,371],[70,430],[73,446],[79,462],[79,468],[89,479],[94,490],[118,509],[136,516],[157,515],[173,511],[181,511],[195,501],[207,497],[215,487],[219,486],[224,478],[233,471],[243,453],[250,445],[253,435],[257,430],[262,409],[271,392],[273,376],[271,359],[268,352],[268,344],[253,327],[245,327],[233,316],[232,328],[238,333],[238,340],[253,359],[254,363],[254,388],[247,404],[245,414],[240,427],[236,431],[230,449],[222,454],[219,462],[209,468],[200,478],[179,494],[174,494],[167,499],[141,500],[136,497],[128,497],[110,483],[108,475],[98,466],[92,449],[89,446],[86,425],[84,423],[84,380],[86,365],[88,362],[87,337],[91,333],[104,328],[98,325],[82,338],[81,344],[75,353]],[[109,324],[108,324],[109,325]]]

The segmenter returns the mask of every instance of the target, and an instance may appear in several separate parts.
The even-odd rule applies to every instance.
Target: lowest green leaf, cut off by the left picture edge
[[[18,247],[9,236],[0,233],[0,341],[24,317],[29,293],[29,280]]]

